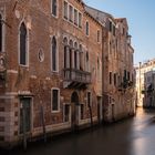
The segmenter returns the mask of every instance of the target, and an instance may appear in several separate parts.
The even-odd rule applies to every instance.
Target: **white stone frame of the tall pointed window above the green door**
[[[24,23],[24,25],[25,25],[25,29],[27,29],[27,51],[25,51],[25,53],[27,53],[27,55],[25,55],[25,65],[23,65],[23,64],[20,64],[20,27],[21,27],[21,24],[22,23]],[[19,37],[18,37],[18,61],[19,61],[19,65],[20,66],[25,66],[25,68],[28,68],[29,66],[29,62],[30,62],[30,58],[29,58],[29,29],[27,28],[27,23],[24,22],[24,20],[22,20],[21,22],[20,22],[20,24],[19,24],[19,29],[18,29],[18,31],[19,31]]]

